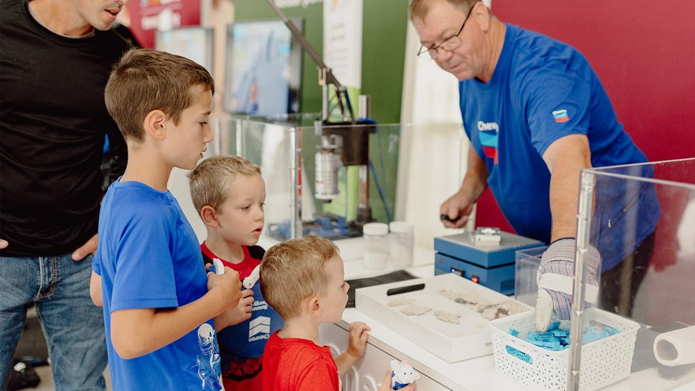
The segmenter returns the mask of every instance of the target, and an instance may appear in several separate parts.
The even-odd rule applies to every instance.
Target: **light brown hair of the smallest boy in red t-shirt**
[[[315,235],[272,246],[260,266],[263,298],[284,320],[300,316],[304,300],[327,293],[331,276],[326,266],[336,256],[338,247]]]

